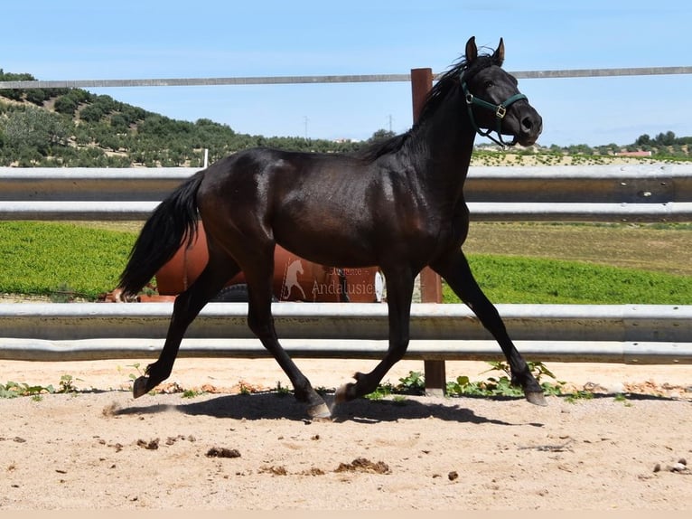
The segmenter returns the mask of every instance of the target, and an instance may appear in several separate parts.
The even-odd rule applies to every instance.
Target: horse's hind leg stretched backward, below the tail
[[[168,326],[164,349],[155,363],[147,366],[145,376],[136,379],[133,384],[135,398],[151,391],[163,382],[173,371],[173,363],[188,326],[200,313],[211,297],[219,293],[230,278],[238,274],[238,263],[225,252],[210,247],[210,258],[199,278],[192,286],[175,298],[173,315]]]

